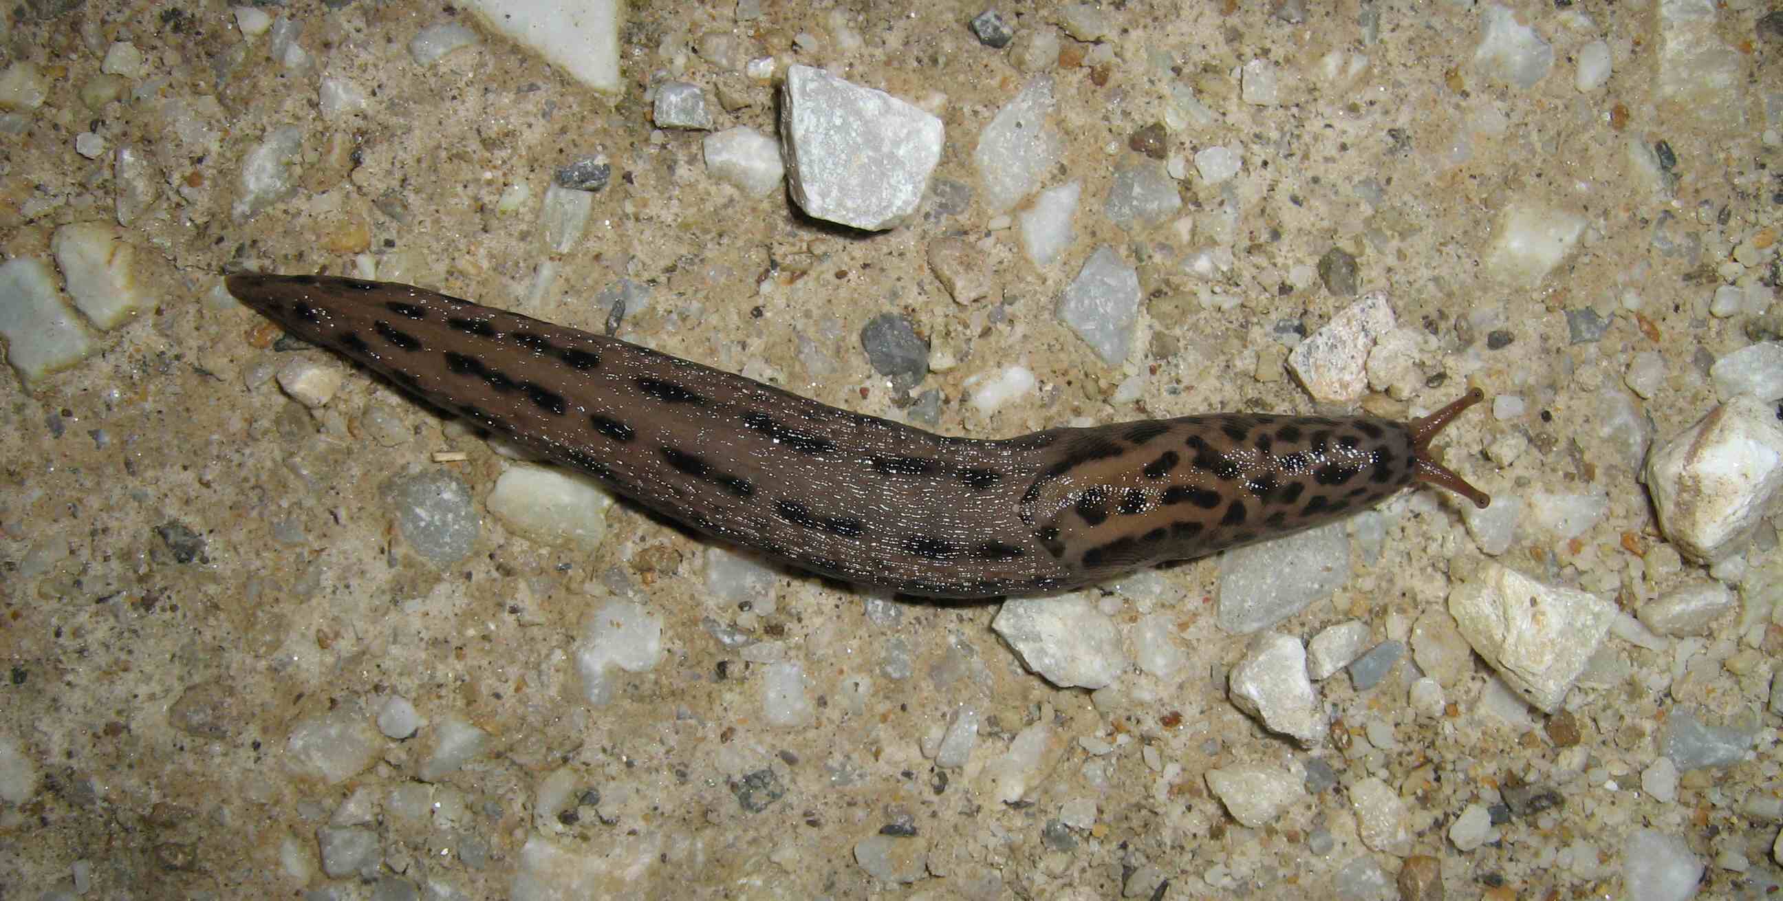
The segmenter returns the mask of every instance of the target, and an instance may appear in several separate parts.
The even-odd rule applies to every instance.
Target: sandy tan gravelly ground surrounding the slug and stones
[[[1416,715],[1407,657],[1362,694],[1343,676],[1323,682],[1332,737],[1300,749],[1225,698],[1220,678],[1245,639],[1212,626],[1216,560],[1166,569],[1175,598],[1145,607],[1179,617],[1184,676],[1161,683],[1129,667],[1095,696],[1023,671],[990,630],[997,605],[900,601],[884,616],[858,592],[793,574],[777,583],[770,616],[720,605],[704,587],[704,544],[628,507],[610,512],[592,553],[514,537],[483,516],[474,551],[439,569],[405,548],[383,487],[444,469],[481,503],[510,464],[364,373],[312,414],[267,373],[291,353],[323,351],[276,350],[275,327],[214,294],[232,262],[353,273],[353,255],[371,253],[412,282],[599,330],[606,310],[592,298],[631,278],[651,302],[622,337],[890,417],[909,398],[872,371],[858,335],[874,316],[900,312],[957,362],[916,389],[941,393],[938,428],[990,437],[1077,417],[1309,412],[1280,373],[1291,332],[1280,323],[1318,328],[1353,302],[1291,278],[1339,246],[1357,259],[1360,291],[1389,291],[1400,325],[1430,335],[1416,359],[1430,387],[1409,401],[1373,393],[1364,409],[1405,416],[1467,384],[1523,396],[1523,416],[1482,407],[1451,428],[1448,462],[1496,496],[1608,492],[1608,514],[1578,539],[1523,528],[1501,560],[1624,607],[1699,574],[1676,557],[1642,566],[1642,555],[1665,560],[1664,539],[1626,450],[1596,425],[1630,360],[1658,351],[1665,378],[1635,403],[1656,435],[1680,432],[1715,403],[1706,364],[1771,328],[1708,312],[1717,268],[1778,219],[1778,150],[1762,132],[1767,95],[1783,91],[1783,43],[1760,23],[1767,9],[1724,4],[1712,30],[1733,50],[1731,82],[1667,98],[1649,2],[1514,2],[1555,48],[1553,71],[1528,89],[1473,66],[1482,11],[1467,4],[1309,5],[1298,23],[1275,4],[1107,5],[1111,55],[1066,36],[1050,7],[1000,5],[1018,34],[1061,37],[1047,70],[1066,150],[1045,184],[1084,184],[1077,241],[1041,269],[1016,232],[991,228],[974,189],[977,134],[1029,79],[1013,50],[968,30],[977,5],[763,2],[747,23],[726,4],[638,5],[620,36],[624,93],[601,96],[489,34],[415,64],[407,43],[419,29],[467,20],[440,4],[294,2],[283,11],[303,23],[305,71],[271,62],[266,37],[244,41],[218,4],[9,4],[4,62],[41,66],[50,96],[0,137],[0,250],[46,255],[55,227],[112,221],[112,155],[78,155],[78,132],[152,148],[157,202],[125,232],[153,309],[41,384],[0,373],[0,735],[37,774],[23,803],[0,803],[0,896],[71,887],[80,862],[87,897],[505,897],[521,847],[549,840],[585,858],[579,892],[612,897],[1332,897],[1359,860],[1391,885],[1419,855],[1435,860],[1446,897],[1617,897],[1637,828],[1674,835],[1708,862],[1701,897],[1762,896],[1779,880],[1778,822],[1738,803],[1783,787],[1765,705],[1783,646],[1776,626],[1753,648],[1730,624],[1676,671],[1672,651],[1612,635],[1598,662],[1610,676],[1576,687],[1567,712],[1526,724],[1482,712],[1491,673],[1478,660],[1444,685],[1444,715]],[[1364,46],[1369,20],[1378,41]],[[838,41],[831,21],[859,46]],[[865,236],[804,219],[785,193],[747,198],[713,182],[701,134],[653,132],[645,102],[651,84],[679,77],[708,98],[742,100],[720,125],[774,134],[774,87],[695,52],[710,32],[736,36],[738,59],[774,55],[777,71],[820,64],[934,111],[949,137],[936,178],[972,200],[931,198],[902,228]],[[801,32],[809,37],[795,41]],[[89,109],[80,87],[121,39],[148,57],[132,87],[159,80],[157,100]],[[1592,39],[1612,48],[1614,75],[1580,93],[1573,54]],[[1327,79],[1318,62],[1334,52],[1368,66]],[[1253,59],[1300,75],[1287,102],[1239,98],[1234,70]],[[321,75],[366,87],[367,109],[323,121]],[[1205,186],[1191,166],[1177,218],[1116,228],[1102,216],[1111,171],[1136,157],[1136,132],[1171,118],[1173,82],[1193,86],[1216,121],[1164,128],[1164,155],[1241,146],[1245,169]],[[180,145],[193,136],[169,130],[166,98],[198,111],[218,132],[214,150]],[[301,128],[298,189],[237,219],[242,153],[282,125]],[[1457,153],[1464,130],[1469,150]],[[1635,171],[1630,139],[1669,146],[1664,178]],[[612,162],[612,184],[574,252],[551,255],[537,198],[558,166],[590,153]],[[535,200],[503,214],[510,184]],[[1198,303],[1205,285],[1180,269],[1211,239],[1184,237],[1177,219],[1221,202],[1237,211],[1236,232],[1218,239],[1236,257],[1218,282],[1241,296],[1232,309]],[[1496,280],[1480,262],[1498,211],[1516,202],[1587,221],[1578,248],[1535,285]],[[990,300],[959,305],[931,273],[925,248],[956,236],[990,237]],[[1102,364],[1054,316],[1098,244],[1138,262],[1146,298],[1125,369]],[[558,278],[528,300],[547,260]],[[1567,310],[1583,309],[1606,328],[1574,343]],[[965,378],[1009,364],[1031,368],[1039,389],[993,416],[961,403]],[[1146,376],[1139,400],[1111,401],[1132,375]],[[407,441],[373,441],[367,417],[396,417]],[[1505,434],[1530,448],[1500,467],[1482,450]],[[465,459],[435,462],[448,450]],[[1360,617],[1375,641],[1403,637],[1442,605],[1453,573],[1487,560],[1460,512],[1428,491],[1389,505],[1378,557],[1278,630],[1305,639]],[[169,525],[201,548],[185,553],[193,542]],[[1783,571],[1776,544],[1762,528],[1749,567]],[[55,566],[23,578],[27,555]],[[588,707],[567,653],[612,594],[661,619],[667,657]],[[1120,594],[1100,603],[1122,626],[1141,612]],[[777,642],[804,667],[817,701],[808,726],[763,721],[761,665],[720,646],[708,617]],[[1721,665],[1753,649],[1756,669],[1751,657]],[[842,703],[859,678],[870,680],[863,703]],[[380,737],[376,762],[339,783],[285,760],[298,723],[339,710],[369,723],[392,694],[433,724],[456,717],[490,735],[481,755],[419,789],[435,805],[419,817],[387,799],[419,785],[428,728]],[[961,703],[979,710],[981,740],[966,769],[940,771],[922,742]],[[1685,773],[1676,799],[1660,801],[1640,790],[1640,773],[1680,703],[1758,739],[1742,762]],[[984,765],[1043,715],[1054,730],[1027,798],[995,801]],[[1364,732],[1391,742],[1346,753]],[[1082,737],[1127,739],[1093,756]],[[1202,778],[1246,762],[1300,774],[1309,760],[1335,785],[1257,830],[1232,821]],[[560,769],[604,801],[544,835],[531,810]],[[745,783],[763,771],[772,776]],[[1369,776],[1409,808],[1410,840],[1396,853],[1359,837],[1346,792]],[[1450,844],[1469,803],[1500,805],[1517,785],[1558,805],[1519,806],[1478,849]],[[378,876],[328,880],[317,828],[358,790],[382,847]],[[1079,826],[1059,822],[1070,803]],[[856,844],[888,824],[915,831],[900,853],[925,855],[911,885],[875,881],[856,862]],[[1728,853],[1747,869],[1717,865]],[[1389,896],[1439,897],[1409,883]]]

